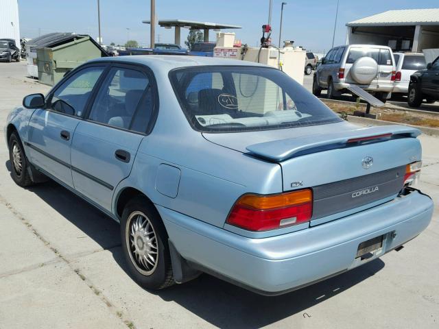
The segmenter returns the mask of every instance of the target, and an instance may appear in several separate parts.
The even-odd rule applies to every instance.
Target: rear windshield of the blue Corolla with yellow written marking
[[[277,69],[196,66],[169,73],[195,130],[237,132],[334,123],[341,119]]]

